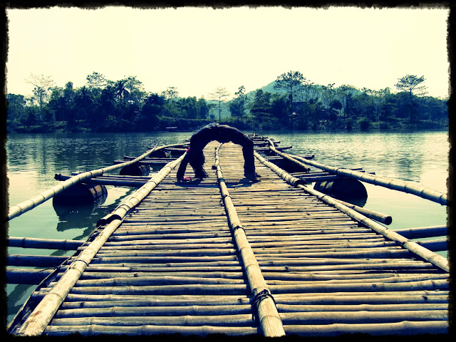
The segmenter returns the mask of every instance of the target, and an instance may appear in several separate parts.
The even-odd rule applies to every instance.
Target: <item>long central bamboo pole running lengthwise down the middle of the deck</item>
[[[214,167],[217,170],[217,182],[219,183],[220,192],[227,211],[229,227],[232,229],[233,238],[236,242],[237,249],[239,250],[242,264],[244,265],[244,271],[249,281],[249,287],[255,298],[254,310],[256,311],[264,336],[284,336],[284,328],[279,313],[277,312],[274,299],[271,296],[266,281],[264,281],[264,278],[261,275],[261,269],[252,252],[252,248],[249,246],[244,229],[242,229],[242,224],[237,217],[236,209],[234,209],[234,204],[229,196],[227,185],[223,179],[222,170],[219,164],[219,147],[221,145],[222,144],[218,145],[215,152]]]

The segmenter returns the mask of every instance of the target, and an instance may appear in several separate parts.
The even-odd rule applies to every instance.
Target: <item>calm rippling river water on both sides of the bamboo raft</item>
[[[246,132],[248,133],[248,132]],[[113,164],[124,155],[138,156],[152,145],[183,142],[192,133],[81,133],[11,134],[6,142],[9,206],[56,185],[56,173],[70,174]],[[261,135],[291,145],[287,152],[315,155],[317,162],[341,167],[363,167],[366,172],[418,182],[446,191],[447,132],[410,133],[281,133]],[[133,190],[108,186],[108,197],[98,208],[81,207],[77,212],[59,212],[52,200],[9,222],[11,237],[86,239],[95,223]],[[366,185],[364,207],[390,214],[390,229],[446,224],[446,207],[383,187]],[[11,254],[71,255],[73,252],[11,247]],[[446,255],[443,253],[442,255]],[[24,304],[35,286],[7,285],[8,321]]]

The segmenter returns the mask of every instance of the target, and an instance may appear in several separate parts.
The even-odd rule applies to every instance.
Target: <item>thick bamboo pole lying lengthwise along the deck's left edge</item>
[[[153,150],[146,152],[142,156],[148,155]],[[135,195],[128,197],[127,203],[121,204],[118,209],[115,210],[113,218],[109,219],[107,226],[98,234],[93,242],[90,242],[88,246],[78,255],[78,257],[71,263],[65,274],[61,276],[61,279],[57,281],[56,286],[53,286],[51,291],[43,298],[42,301],[33,309],[31,314],[28,316],[26,321],[19,328],[19,336],[39,336],[43,333],[51,321],[53,315],[56,313],[58,306],[61,305],[68,293],[73,289],[76,281],[81,277],[81,274],[86,269],[86,266],[95,257],[100,247],[108,240],[111,234],[119,227],[122,223],[122,219],[129,212],[134,205],[138,204],[142,198],[144,198],[150,191],[152,191],[158,183],[174,168],[184,157],[170,162],[167,166],[163,167],[160,172],[157,172],[155,177],[141,187]],[[114,167],[115,168],[115,167]],[[113,170],[113,167],[108,167],[108,170]],[[135,204],[134,204],[135,202]],[[132,205],[133,204],[133,205]],[[107,220],[108,221],[108,220]],[[78,262],[79,261],[79,262]]]

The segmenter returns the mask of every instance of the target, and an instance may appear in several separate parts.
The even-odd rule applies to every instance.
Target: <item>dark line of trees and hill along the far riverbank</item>
[[[147,92],[136,76],[120,81],[88,75],[86,85],[62,88],[48,76],[34,76],[33,95],[7,94],[8,132],[147,132],[173,126],[195,130],[215,120],[240,129],[353,130],[447,128],[447,99],[427,96],[424,76],[398,79],[393,93],[344,85],[317,85],[299,71],[277,76],[271,91],[234,97],[217,88],[204,97],[182,98],[175,87]],[[222,120],[222,108],[229,116]]]

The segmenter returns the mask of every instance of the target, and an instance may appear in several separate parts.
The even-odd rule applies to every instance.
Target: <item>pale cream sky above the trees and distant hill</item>
[[[31,94],[31,73],[84,86],[96,71],[137,76],[145,90],[176,87],[209,98],[266,86],[287,71],[321,85],[395,91],[425,76],[429,95],[449,93],[448,9],[180,7],[6,9],[6,92]]]

